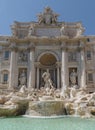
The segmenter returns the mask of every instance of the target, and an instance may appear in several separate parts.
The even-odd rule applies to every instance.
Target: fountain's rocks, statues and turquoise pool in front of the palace
[[[48,71],[43,73],[42,78],[44,87],[39,90],[30,91],[23,85],[19,91],[0,92],[1,130],[6,128],[7,130],[10,128],[14,130],[76,130],[76,128],[93,130],[95,128],[95,93],[87,93],[86,88],[79,89],[75,84],[75,74],[71,76],[73,86],[64,87],[62,90],[54,88]],[[25,77],[22,80],[25,82]],[[17,116],[18,118],[5,118]],[[79,128],[77,124],[80,125]]]

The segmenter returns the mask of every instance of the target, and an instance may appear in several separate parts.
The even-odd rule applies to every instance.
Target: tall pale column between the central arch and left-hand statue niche
[[[35,88],[34,52],[35,48],[31,47],[29,55],[29,88]]]

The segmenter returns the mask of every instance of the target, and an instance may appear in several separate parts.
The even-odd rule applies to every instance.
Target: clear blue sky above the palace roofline
[[[50,6],[59,21],[81,21],[85,35],[95,35],[95,0],[0,0],[0,35],[11,35],[14,21],[37,21],[37,14]]]

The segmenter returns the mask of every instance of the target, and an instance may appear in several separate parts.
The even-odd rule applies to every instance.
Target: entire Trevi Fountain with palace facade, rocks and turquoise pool
[[[15,22],[13,35],[0,37],[7,58],[0,58],[0,130],[95,129],[94,59],[88,50],[95,38],[82,35],[80,22],[57,17],[46,7],[38,22]]]

